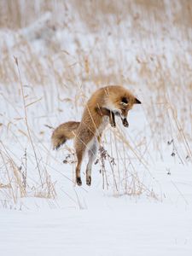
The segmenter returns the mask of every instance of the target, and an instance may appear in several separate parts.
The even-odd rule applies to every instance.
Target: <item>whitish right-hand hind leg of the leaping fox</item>
[[[86,167],[86,184],[88,186],[90,186],[90,184],[91,184],[91,168],[92,168],[94,160],[96,160],[96,153],[98,150],[98,145],[99,145],[99,143],[97,141],[97,138],[95,137],[94,141],[88,151],[89,161],[88,161],[88,164]]]

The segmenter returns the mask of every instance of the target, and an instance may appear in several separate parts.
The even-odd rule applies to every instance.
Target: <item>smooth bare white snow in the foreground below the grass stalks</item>
[[[95,200],[94,197],[92,200]],[[106,198],[97,207],[2,211],[3,255],[190,255],[191,207]]]

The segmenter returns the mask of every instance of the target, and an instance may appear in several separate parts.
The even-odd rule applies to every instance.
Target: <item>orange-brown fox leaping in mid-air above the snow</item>
[[[99,145],[102,140],[102,132],[107,125],[116,127],[115,118],[119,118],[125,127],[129,126],[128,112],[134,104],[141,104],[130,90],[121,85],[108,85],[96,90],[84,107],[84,113],[80,122],[68,121],[59,125],[53,131],[51,140],[54,149],[58,149],[67,140],[74,140],[74,148],[77,156],[76,183],[81,186],[80,170],[85,153],[89,160],[86,166],[86,184],[91,185],[91,169]]]

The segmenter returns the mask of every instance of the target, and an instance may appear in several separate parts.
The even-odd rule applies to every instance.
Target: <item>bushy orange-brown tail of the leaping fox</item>
[[[80,122],[70,121],[59,125],[53,132],[51,141],[53,149],[58,149],[62,144],[66,143],[67,140],[75,137],[75,133],[79,127]]]

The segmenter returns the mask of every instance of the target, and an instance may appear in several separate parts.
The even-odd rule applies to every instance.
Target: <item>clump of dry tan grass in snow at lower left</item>
[[[15,205],[22,197],[41,197],[46,199],[54,199],[56,196],[55,183],[51,181],[49,173],[44,170],[41,177],[36,178],[35,182],[27,177],[27,154],[23,155],[20,166],[15,162],[9,151],[3,143],[1,146],[4,150],[0,151],[1,156],[1,202],[9,205],[12,201]],[[40,182],[40,183],[38,183]]]

